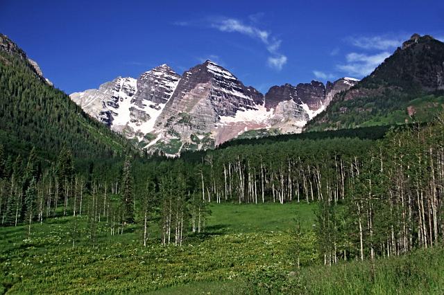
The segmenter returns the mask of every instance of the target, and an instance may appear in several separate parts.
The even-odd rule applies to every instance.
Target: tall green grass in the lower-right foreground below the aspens
[[[407,256],[307,267],[290,278],[298,294],[444,294],[444,248]]]

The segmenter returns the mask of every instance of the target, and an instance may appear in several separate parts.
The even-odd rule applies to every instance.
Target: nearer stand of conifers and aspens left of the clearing
[[[21,154],[13,159],[0,145],[1,225],[27,224],[30,238],[44,220],[71,216],[73,246],[80,234],[79,218],[86,220],[83,232],[93,244],[99,226],[110,236],[139,226],[145,246],[157,228],[162,244],[176,245],[188,233],[205,229],[207,202],[187,185],[183,170],[173,169],[157,178],[144,175],[143,181],[138,180],[143,188],[135,186],[131,156],[110,170],[92,166],[87,172],[76,171],[74,161],[71,151],[62,147],[57,161],[42,168],[35,149],[26,159]]]

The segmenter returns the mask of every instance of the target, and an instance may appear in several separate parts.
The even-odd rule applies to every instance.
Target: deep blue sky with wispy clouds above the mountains
[[[0,0],[0,33],[67,93],[206,59],[266,92],[362,78],[413,33],[444,39],[444,1]]]

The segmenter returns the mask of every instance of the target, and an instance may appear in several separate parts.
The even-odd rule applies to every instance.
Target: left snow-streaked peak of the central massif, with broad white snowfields
[[[114,131],[139,141],[153,132],[155,120],[176,89],[180,75],[162,64],[134,78],[118,77],[89,89],[71,94],[71,99],[90,116]]]

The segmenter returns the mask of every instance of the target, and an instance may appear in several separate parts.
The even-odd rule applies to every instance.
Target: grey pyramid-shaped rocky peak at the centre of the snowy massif
[[[213,62],[194,66],[182,75],[176,90],[157,118],[157,138],[175,139],[198,148],[214,147],[216,123],[234,117],[237,111],[256,111],[263,96],[246,87],[232,73]],[[205,138],[201,143],[193,139]]]

